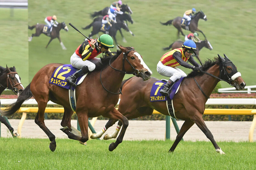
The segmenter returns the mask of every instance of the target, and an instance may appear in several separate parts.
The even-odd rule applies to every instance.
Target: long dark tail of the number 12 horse
[[[1,110],[0,112],[2,115],[4,116],[10,116],[15,114],[16,112],[18,112],[19,108],[21,107],[22,103],[25,100],[28,100],[32,97],[32,92],[30,90],[30,84],[21,92],[21,94],[19,95],[17,101],[15,103],[12,103],[10,106],[8,106],[7,109],[5,110]]]

